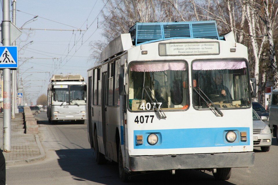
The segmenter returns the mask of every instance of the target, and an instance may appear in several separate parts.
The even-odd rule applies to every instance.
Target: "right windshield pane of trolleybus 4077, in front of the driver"
[[[217,108],[250,107],[245,61],[199,60],[193,62],[192,69],[193,84],[196,84],[193,88],[197,91],[202,90]],[[205,96],[203,97],[209,102]],[[193,105],[196,109],[209,108],[207,102],[195,90],[193,91]]]

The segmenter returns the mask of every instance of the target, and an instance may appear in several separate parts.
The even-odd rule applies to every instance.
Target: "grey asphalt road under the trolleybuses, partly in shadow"
[[[255,166],[233,168],[230,180],[216,181],[211,172],[196,170],[155,172],[132,177],[122,183],[116,163],[97,165],[87,139],[87,123],[61,122],[51,125],[46,113],[36,116],[46,159],[33,164],[9,166],[6,184],[278,184],[278,144],[275,138],[269,152],[255,148]]]

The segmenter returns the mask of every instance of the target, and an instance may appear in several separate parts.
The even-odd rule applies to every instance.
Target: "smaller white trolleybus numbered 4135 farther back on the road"
[[[87,119],[87,83],[79,74],[55,74],[47,88],[47,117],[50,123]]]

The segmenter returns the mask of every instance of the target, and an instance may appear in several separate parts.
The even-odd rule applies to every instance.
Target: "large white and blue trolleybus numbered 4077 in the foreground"
[[[215,21],[136,23],[87,73],[89,143],[122,180],[179,169],[227,180],[254,166],[247,48]]]

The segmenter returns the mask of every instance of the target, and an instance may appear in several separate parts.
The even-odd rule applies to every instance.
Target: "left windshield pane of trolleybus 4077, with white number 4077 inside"
[[[187,63],[183,61],[130,64],[129,109],[147,111],[154,110],[154,106],[162,110],[187,109],[187,69]]]

